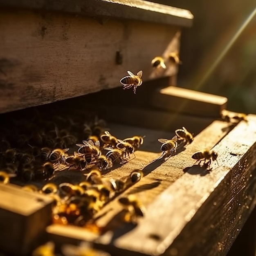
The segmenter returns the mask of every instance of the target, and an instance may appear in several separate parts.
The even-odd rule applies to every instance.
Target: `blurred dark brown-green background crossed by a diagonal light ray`
[[[178,86],[225,96],[228,109],[256,113],[255,0],[152,0],[189,9],[182,30]]]

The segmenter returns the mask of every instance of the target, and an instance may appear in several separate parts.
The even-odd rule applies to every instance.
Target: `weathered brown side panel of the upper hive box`
[[[58,13],[0,10],[0,112],[27,108],[121,86],[119,80],[179,49],[180,28]],[[122,55],[122,64],[115,62]],[[166,74],[177,74],[170,67]]]

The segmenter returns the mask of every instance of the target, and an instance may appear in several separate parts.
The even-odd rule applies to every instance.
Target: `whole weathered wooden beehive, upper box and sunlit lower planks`
[[[88,94],[49,108],[97,112],[120,138],[146,135],[135,159],[106,173],[122,178],[142,170],[141,181],[119,196],[138,195],[145,217],[138,225],[121,222],[117,197],[95,216],[106,232],[48,226],[56,248],[86,240],[112,256],[226,255],[256,202],[256,117],[231,125],[217,120],[225,97],[163,88],[175,85],[177,65],[159,73],[150,61],[179,52],[191,13],[141,0],[1,0],[0,7],[0,112]],[[137,94],[115,88],[127,70],[143,70],[148,81]],[[193,143],[159,158],[157,138],[182,126],[196,135]],[[191,158],[204,148],[219,154],[208,171]]]

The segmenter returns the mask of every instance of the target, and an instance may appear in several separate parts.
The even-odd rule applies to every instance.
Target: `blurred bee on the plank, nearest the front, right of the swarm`
[[[137,222],[137,217],[143,217],[145,214],[145,207],[135,195],[128,195],[127,197],[119,198],[119,203],[126,209],[124,221]]]

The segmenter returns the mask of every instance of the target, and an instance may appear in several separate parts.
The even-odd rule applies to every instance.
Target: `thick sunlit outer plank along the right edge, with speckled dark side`
[[[146,255],[162,254],[171,244],[168,255],[225,255],[256,203],[255,124],[250,115],[213,147],[219,166],[213,163],[209,173],[199,166],[186,169],[148,206],[137,227],[127,234],[120,230],[111,242],[106,234],[99,242]]]

